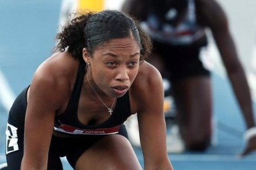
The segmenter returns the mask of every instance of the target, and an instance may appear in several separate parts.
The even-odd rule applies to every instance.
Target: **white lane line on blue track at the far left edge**
[[[14,100],[15,94],[9,86],[7,79],[4,77],[4,74],[0,70],[0,102],[6,109],[7,113],[9,113]]]

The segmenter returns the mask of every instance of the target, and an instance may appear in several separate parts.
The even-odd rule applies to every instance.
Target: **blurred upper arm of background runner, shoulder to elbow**
[[[228,25],[228,18],[215,0],[197,0],[198,14],[202,22],[210,28],[216,46],[228,73],[241,69],[234,39]]]

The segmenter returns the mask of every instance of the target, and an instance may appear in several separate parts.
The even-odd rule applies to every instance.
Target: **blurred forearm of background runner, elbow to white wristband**
[[[234,94],[236,95],[237,102],[242,110],[247,129],[255,126],[254,112],[252,107],[252,98],[250,95],[249,85],[245,77],[245,73],[240,68],[237,71],[228,73],[229,79],[233,86]]]

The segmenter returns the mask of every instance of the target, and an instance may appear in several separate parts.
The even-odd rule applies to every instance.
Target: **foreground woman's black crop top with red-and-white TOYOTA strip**
[[[84,75],[85,62],[81,61],[69,103],[64,113],[56,116],[54,130],[67,134],[116,134],[119,131],[119,126],[131,115],[129,92],[117,99],[116,107],[109,119],[95,125],[82,124],[77,117],[77,109]]]

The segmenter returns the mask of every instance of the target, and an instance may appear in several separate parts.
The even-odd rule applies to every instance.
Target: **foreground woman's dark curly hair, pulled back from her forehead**
[[[68,51],[75,59],[82,60],[82,49],[85,47],[90,55],[101,44],[111,39],[132,36],[140,45],[140,60],[145,60],[151,52],[151,40],[142,31],[139,22],[129,15],[117,10],[101,12],[79,12],[77,17],[64,25],[56,39],[58,44],[54,52]]]

